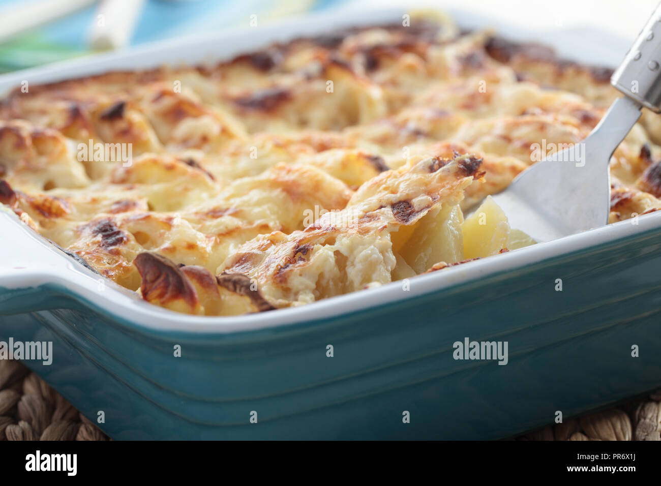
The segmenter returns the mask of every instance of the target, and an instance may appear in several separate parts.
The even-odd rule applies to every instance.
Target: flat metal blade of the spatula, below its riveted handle
[[[640,116],[635,101],[617,99],[583,142],[535,163],[493,196],[510,226],[541,242],[607,224],[608,163]]]

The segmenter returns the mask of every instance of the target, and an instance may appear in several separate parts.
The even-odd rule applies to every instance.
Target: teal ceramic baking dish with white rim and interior
[[[603,32],[533,34],[449,13],[578,61],[616,65],[629,46]],[[402,15],[338,12],[258,36],[166,42],[11,73],[0,91],[23,79],[221,60]],[[116,439],[502,438],[661,385],[661,212],[418,276],[409,290],[394,282],[241,317],[147,304],[7,211],[0,234],[0,341],[52,341],[50,366],[25,363],[87,417],[103,411],[99,426]],[[508,363],[455,360],[453,343],[465,338],[506,341]]]

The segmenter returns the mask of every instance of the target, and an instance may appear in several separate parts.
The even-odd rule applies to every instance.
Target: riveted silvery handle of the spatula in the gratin
[[[613,73],[611,85],[642,106],[661,113],[661,4]]]

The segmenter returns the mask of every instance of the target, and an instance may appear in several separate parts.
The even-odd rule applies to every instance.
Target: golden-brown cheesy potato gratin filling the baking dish
[[[533,243],[486,197],[535,147],[583,140],[617,97],[610,74],[428,14],[24,86],[0,104],[0,202],[175,311],[405,290]],[[611,159],[611,222],[661,208],[659,143],[644,112]]]

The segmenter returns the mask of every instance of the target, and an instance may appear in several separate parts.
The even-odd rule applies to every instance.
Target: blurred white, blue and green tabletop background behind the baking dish
[[[532,30],[598,27],[632,39],[658,0],[440,0]],[[0,73],[97,50],[217,32],[307,12],[403,7],[393,0],[0,0]]]

